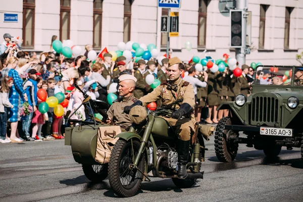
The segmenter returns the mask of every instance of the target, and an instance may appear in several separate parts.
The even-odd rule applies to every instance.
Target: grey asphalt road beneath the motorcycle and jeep
[[[220,163],[214,136],[206,146],[204,179],[194,187],[152,177],[137,195],[117,198],[108,179],[92,183],[84,176],[64,140],[0,144],[0,201],[303,201],[299,148],[268,160],[241,144],[234,162]]]

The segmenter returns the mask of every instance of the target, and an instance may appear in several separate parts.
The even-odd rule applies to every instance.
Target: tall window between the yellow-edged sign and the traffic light
[[[206,20],[208,0],[199,0],[198,47],[206,46]]]

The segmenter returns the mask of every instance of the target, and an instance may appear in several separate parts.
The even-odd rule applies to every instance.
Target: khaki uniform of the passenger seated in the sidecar
[[[107,114],[111,118],[112,122],[115,125],[121,126],[121,128],[128,128],[130,127],[131,120],[128,114],[123,113],[123,109],[126,106],[130,106],[134,104],[138,99],[132,94],[129,97],[123,97],[120,99],[115,100],[113,105],[108,110]]]

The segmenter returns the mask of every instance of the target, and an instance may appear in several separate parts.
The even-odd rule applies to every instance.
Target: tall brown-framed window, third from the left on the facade
[[[93,1],[93,47],[95,48],[101,48],[102,3],[103,0]]]

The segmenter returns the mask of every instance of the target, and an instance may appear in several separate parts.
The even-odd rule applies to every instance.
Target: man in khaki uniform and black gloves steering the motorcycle
[[[178,133],[179,140],[177,145],[178,152],[178,178],[187,177],[186,164],[188,162],[190,135],[194,133],[195,118],[193,108],[195,105],[193,86],[183,81],[181,74],[184,71],[182,61],[177,58],[171,58],[168,65],[168,81],[163,81],[153,92],[141,97],[136,103],[124,108],[124,113],[129,114],[132,107],[155,102],[158,98],[162,105],[169,105],[175,100],[182,98],[182,104],[176,105],[177,109],[173,112],[172,118],[163,117]],[[184,116],[182,118],[182,116]],[[182,119],[181,119],[182,118]]]

